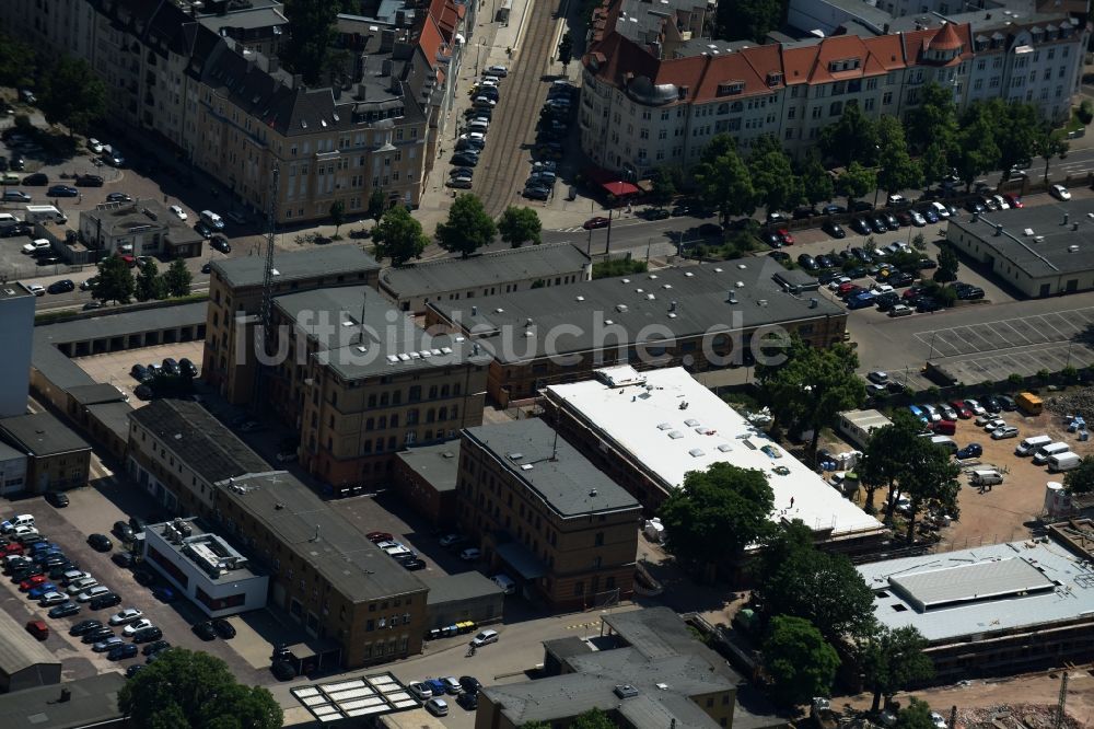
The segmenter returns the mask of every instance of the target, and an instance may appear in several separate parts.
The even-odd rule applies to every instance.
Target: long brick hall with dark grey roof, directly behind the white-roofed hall
[[[508,406],[618,362],[689,371],[747,364],[754,336],[775,327],[817,347],[842,340],[846,310],[788,293],[776,279],[784,271],[772,258],[745,258],[431,301],[426,323],[490,354],[487,391]]]

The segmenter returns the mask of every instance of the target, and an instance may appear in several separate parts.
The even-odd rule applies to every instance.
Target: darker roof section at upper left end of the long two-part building
[[[156,400],[129,416],[210,484],[271,467],[197,403]]]

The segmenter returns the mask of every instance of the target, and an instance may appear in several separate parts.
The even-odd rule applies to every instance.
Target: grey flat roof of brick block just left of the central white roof
[[[464,437],[493,455],[563,519],[641,508],[539,418],[465,428]]]

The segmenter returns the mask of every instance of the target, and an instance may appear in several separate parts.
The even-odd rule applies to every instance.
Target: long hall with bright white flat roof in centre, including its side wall
[[[544,391],[548,419],[647,511],[715,463],[757,468],[775,491],[777,522],[801,520],[819,543],[869,552],[887,532],[682,368],[606,368]]]

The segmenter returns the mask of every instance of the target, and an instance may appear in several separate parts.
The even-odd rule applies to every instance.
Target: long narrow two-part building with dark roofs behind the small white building
[[[318,667],[421,651],[428,589],[304,484],[274,471],[205,408],[155,401],[130,416],[127,467],[203,516],[268,576],[268,599],[317,639]]]

